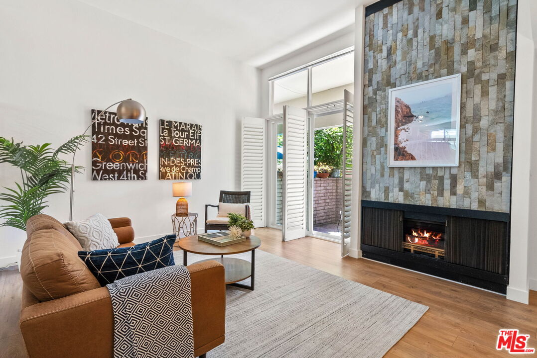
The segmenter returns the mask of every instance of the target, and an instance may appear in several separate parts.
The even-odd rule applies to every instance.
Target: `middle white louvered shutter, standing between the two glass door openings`
[[[307,123],[305,110],[284,106],[284,241],[306,236]]]

